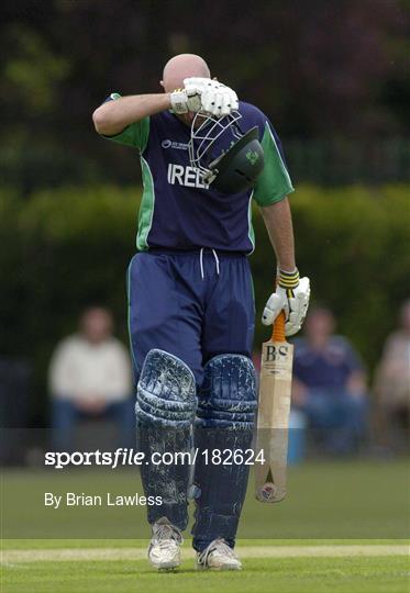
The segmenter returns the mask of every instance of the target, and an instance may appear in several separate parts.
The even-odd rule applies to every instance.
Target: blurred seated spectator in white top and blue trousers
[[[53,446],[70,450],[79,421],[108,418],[117,424],[119,446],[132,447],[131,366],[125,347],[112,335],[111,313],[86,310],[79,329],[57,346],[49,365]]]

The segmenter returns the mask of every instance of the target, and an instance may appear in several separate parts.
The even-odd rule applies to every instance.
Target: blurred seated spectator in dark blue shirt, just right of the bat
[[[346,338],[333,335],[328,309],[313,309],[306,337],[295,340],[292,403],[304,412],[328,452],[353,452],[366,429],[366,379]]]

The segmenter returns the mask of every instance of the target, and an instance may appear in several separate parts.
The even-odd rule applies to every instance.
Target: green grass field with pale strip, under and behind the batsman
[[[87,491],[91,482],[101,482],[100,474],[89,478],[87,488],[77,473],[52,475],[57,490],[75,489],[82,481]],[[124,490],[130,475],[111,479],[110,489],[114,480],[123,480],[119,488]],[[55,517],[56,526],[52,529],[52,518],[46,518],[47,528],[27,538],[23,534],[35,536],[40,519],[32,517],[37,508],[24,501],[27,492],[35,500],[43,486],[44,475],[38,473],[11,471],[2,475],[2,535],[7,538],[2,539],[1,593],[410,591],[409,467],[405,460],[291,468],[289,496],[280,505],[256,503],[251,483],[237,546],[244,570],[239,573],[196,572],[189,540],[184,546],[181,569],[156,573],[145,559],[147,540],[129,536],[129,513],[117,516],[117,523],[114,514],[108,515],[112,537],[97,537],[99,524],[104,523],[103,510],[98,510],[97,514],[80,513],[80,518],[67,511],[62,515],[54,512],[49,517]],[[11,496],[15,504],[8,518]],[[32,518],[21,535],[19,507],[20,523]],[[143,510],[129,512],[134,518],[131,528],[144,532],[142,537],[146,538]],[[90,522],[87,539],[78,529],[85,521]],[[274,539],[270,534],[275,530]],[[264,533],[269,533],[269,538],[264,538]]]

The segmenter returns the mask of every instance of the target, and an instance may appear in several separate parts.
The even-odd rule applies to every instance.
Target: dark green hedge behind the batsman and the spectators
[[[80,310],[103,303],[126,337],[125,270],[134,253],[141,190],[73,187],[22,199],[0,193],[0,355],[29,357],[43,410],[45,370],[55,343],[73,332]],[[337,314],[369,368],[399,303],[409,294],[409,197],[403,186],[325,190],[291,197],[298,265],[313,299]],[[275,261],[263,222],[252,256],[257,314],[270,292]],[[267,336],[257,324],[256,345]]]

